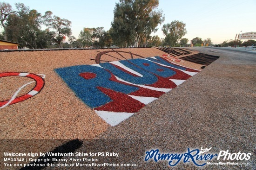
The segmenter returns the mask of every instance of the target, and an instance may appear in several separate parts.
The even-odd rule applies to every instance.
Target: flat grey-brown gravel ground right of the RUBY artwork
[[[117,152],[118,158],[95,158],[103,163],[138,164],[134,169],[139,170],[197,170],[200,168],[193,163],[170,168],[167,161],[145,162],[145,152],[184,153],[187,148],[212,147],[211,153],[251,153],[248,161],[222,160],[250,165],[205,165],[203,170],[255,170],[256,55],[193,49],[221,57],[128,120],[108,128],[95,140],[84,141],[76,151]]]

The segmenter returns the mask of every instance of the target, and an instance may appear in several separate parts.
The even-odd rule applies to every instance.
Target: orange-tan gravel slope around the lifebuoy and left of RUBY
[[[130,51],[133,58],[166,54],[155,48],[0,52],[0,73],[25,72],[46,76],[39,94],[0,109],[1,151],[46,153],[68,140],[94,139],[106,131],[109,125],[80,101],[54,71],[61,67],[95,64],[95,57],[103,51],[109,52],[101,56],[101,63],[131,59]],[[201,67],[190,62],[182,64],[196,69]],[[18,88],[31,81],[31,78],[20,76],[1,77],[0,101],[10,100]],[[18,96],[27,94],[34,85],[33,82],[22,88]],[[0,168],[2,165],[0,162]]]

